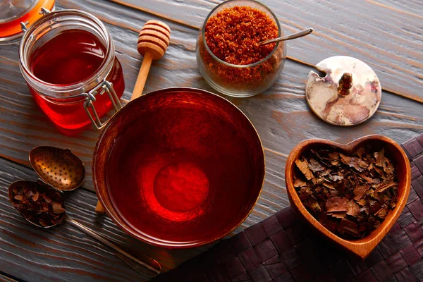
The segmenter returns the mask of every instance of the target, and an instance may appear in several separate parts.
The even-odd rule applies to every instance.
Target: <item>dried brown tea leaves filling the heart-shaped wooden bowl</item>
[[[294,187],[302,204],[329,231],[359,239],[378,228],[396,207],[398,179],[385,149],[311,149],[295,161]]]

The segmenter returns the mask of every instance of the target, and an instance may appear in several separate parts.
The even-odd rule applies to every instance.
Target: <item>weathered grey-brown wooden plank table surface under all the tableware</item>
[[[278,16],[284,32],[313,27],[312,35],[288,42],[280,78],[266,92],[228,98],[252,121],[266,154],[266,180],[254,211],[235,231],[262,221],[289,205],[284,181],[286,157],[307,138],[348,142],[373,133],[396,142],[423,132],[423,2],[419,0],[262,0]],[[154,61],[145,92],[163,87],[198,87],[204,82],[195,61],[195,40],[216,0],[59,0],[56,9],[87,11],[102,20],[114,37],[125,75],[124,100],[130,99],[142,56],[136,42],[149,19],[166,22],[171,44]],[[347,55],[371,66],[384,89],[374,117],[353,128],[319,120],[305,101],[305,80],[312,66],[329,56]],[[68,147],[91,167],[99,132],[61,135],[37,108],[18,67],[18,44],[0,47],[0,281],[145,281],[96,240],[63,223],[48,230],[30,226],[8,202],[7,188],[19,179],[37,178],[28,152],[38,145]],[[166,250],[137,242],[107,216],[94,213],[97,201],[90,169],[82,188],[66,194],[73,219],[109,236],[131,252],[156,258],[164,271],[209,246]],[[12,280],[13,281],[13,280]]]

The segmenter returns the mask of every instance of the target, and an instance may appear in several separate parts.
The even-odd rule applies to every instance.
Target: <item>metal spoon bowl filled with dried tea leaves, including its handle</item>
[[[62,221],[70,223],[80,231],[99,240],[104,245],[114,250],[114,254],[126,264],[147,277],[155,277],[160,274],[161,266],[159,262],[144,254],[139,254],[142,262],[137,257],[133,257],[125,252],[109,239],[90,228],[83,226],[78,221],[74,221],[66,215],[65,203],[59,190],[52,188],[42,181],[19,180],[12,183],[8,188],[9,200],[13,207],[23,215],[23,217],[35,226],[50,228]],[[146,263],[148,262],[148,263]]]

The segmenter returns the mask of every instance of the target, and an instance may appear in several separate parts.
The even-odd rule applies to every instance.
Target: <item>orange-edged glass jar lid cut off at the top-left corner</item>
[[[0,3],[0,44],[16,42],[23,34],[20,23],[30,25],[42,17],[41,8],[54,10],[55,0],[4,0]]]

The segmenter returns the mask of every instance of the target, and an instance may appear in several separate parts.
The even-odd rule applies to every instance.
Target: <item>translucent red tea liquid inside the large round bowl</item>
[[[214,240],[258,196],[257,143],[230,114],[168,104],[142,104],[147,114],[140,111],[116,138],[106,164],[109,195],[122,218],[153,240]]]

